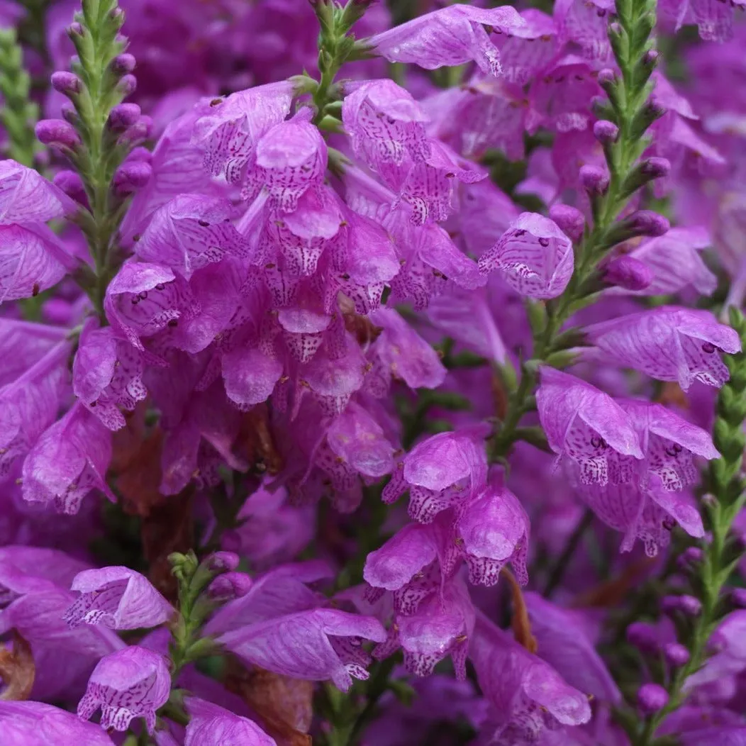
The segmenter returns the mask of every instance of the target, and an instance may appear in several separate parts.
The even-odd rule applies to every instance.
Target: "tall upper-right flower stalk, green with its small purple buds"
[[[617,0],[617,19],[609,26],[609,40],[621,75],[610,69],[599,74],[598,81],[608,99],[596,104],[601,120],[594,128],[596,139],[604,146],[608,173],[592,166],[583,166],[580,172],[591,201],[592,227],[586,226],[583,231],[582,219],[574,220],[573,215],[580,214],[573,208],[559,205],[551,211],[556,222],[577,222],[577,236],[572,236],[577,238],[574,273],[559,298],[527,303],[533,330],[532,359],[521,366],[520,381],[510,365],[500,370],[510,404],[492,439],[493,461],[504,460],[513,443],[522,437],[519,424],[535,407],[533,391],[539,364],[562,368],[574,359],[569,350],[580,345],[583,337],[577,329],[560,330],[573,313],[595,301],[602,286],[598,273],[601,260],[622,241],[659,235],[668,228],[664,218],[645,210],[620,219],[633,193],[661,175],[647,160],[640,160],[650,144],[645,132],[664,113],[650,98],[650,77],[658,58],[651,39],[655,10],[655,0]]]

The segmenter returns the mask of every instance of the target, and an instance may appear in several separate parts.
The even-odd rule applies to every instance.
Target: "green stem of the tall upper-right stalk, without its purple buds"
[[[609,101],[602,104],[599,112],[619,128],[615,142],[604,146],[611,177],[609,187],[603,194],[592,197],[593,226],[586,228],[580,245],[574,247],[575,271],[565,291],[546,304],[528,304],[533,330],[532,359],[522,366],[517,385],[513,369],[510,366],[502,369],[510,404],[492,439],[493,461],[504,460],[521,436],[518,425],[534,407],[539,365],[562,367],[571,362],[568,349],[582,337],[575,330],[565,333],[560,330],[573,313],[595,300],[599,262],[615,244],[630,237],[618,216],[627,207],[630,195],[644,183],[636,164],[649,143],[645,131],[660,114],[648,101],[653,63],[646,57],[653,48],[650,34],[655,21],[655,0],[617,0],[616,14],[618,21],[609,28],[609,40],[621,77],[604,83]]]

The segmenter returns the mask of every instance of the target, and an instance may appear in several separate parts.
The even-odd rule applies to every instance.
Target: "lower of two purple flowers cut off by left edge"
[[[0,225],[0,303],[31,298],[75,269],[46,225]]]

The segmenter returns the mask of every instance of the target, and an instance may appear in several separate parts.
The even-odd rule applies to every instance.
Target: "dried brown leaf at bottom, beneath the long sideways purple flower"
[[[312,746],[313,682],[232,661],[225,686],[256,712],[278,746]]]

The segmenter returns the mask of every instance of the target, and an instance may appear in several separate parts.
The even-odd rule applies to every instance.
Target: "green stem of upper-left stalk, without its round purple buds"
[[[82,13],[75,15],[75,21],[80,31],[71,28],[69,37],[80,61],[73,65],[73,72],[83,86],[70,98],[82,145],[68,156],[81,175],[90,203],[90,213],[82,212],[78,219],[95,263],[95,278],[84,278],[81,284],[103,321],[104,292],[116,272],[113,241],[126,205],[126,201],[117,204],[113,200],[112,179],[127,148],[107,131],[111,110],[124,98],[111,66],[126,46],[119,35],[124,14],[116,0],[83,0]]]

